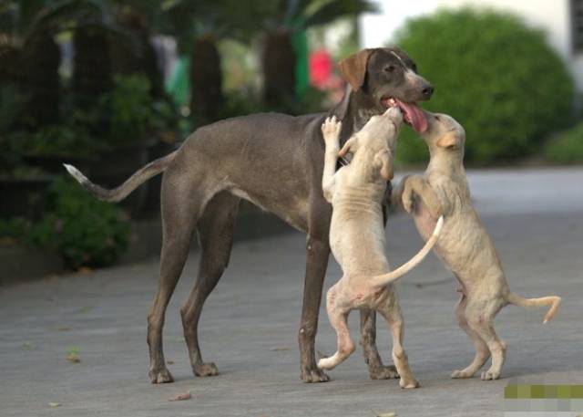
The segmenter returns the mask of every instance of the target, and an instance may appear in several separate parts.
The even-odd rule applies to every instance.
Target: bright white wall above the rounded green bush
[[[568,63],[579,91],[583,91],[583,57],[574,57],[571,52],[569,0],[378,0],[377,3],[382,12],[364,15],[359,22],[363,47],[384,45],[408,17],[429,14],[442,6],[495,7],[514,12],[530,25],[543,28],[548,43]]]

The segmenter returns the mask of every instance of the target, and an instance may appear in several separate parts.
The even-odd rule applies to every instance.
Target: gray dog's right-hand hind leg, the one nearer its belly
[[[199,318],[205,300],[229,264],[239,201],[238,197],[230,193],[219,193],[210,200],[199,221],[199,243],[202,249],[199,274],[189,297],[180,308],[180,314],[190,365],[194,374],[200,377],[219,373],[214,363],[202,361],[198,335]]]

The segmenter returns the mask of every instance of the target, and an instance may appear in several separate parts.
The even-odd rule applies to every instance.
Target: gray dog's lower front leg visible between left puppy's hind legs
[[[384,366],[376,348],[376,311],[361,309],[361,345],[363,345],[364,362],[372,380],[393,380],[399,378],[394,365]]]

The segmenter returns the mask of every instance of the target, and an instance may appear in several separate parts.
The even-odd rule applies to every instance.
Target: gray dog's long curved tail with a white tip
[[[174,160],[177,151],[173,151],[162,158],[159,158],[155,161],[149,162],[148,165],[145,165],[143,168],[140,168],[137,172],[126,180],[126,182],[119,185],[117,188],[112,190],[107,190],[93,182],[90,182],[82,172],[77,170],[73,165],[68,165],[64,163],[63,165],[66,168],[73,178],[77,180],[83,187],[99,200],[103,200],[104,202],[109,203],[118,203],[119,201],[123,200],[128,196],[129,193],[134,191],[140,184],[143,182],[147,182],[150,178],[158,175],[160,172],[165,171],[170,162]]]

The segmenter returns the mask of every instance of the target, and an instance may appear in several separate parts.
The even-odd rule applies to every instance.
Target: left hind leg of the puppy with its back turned
[[[346,310],[340,306],[338,300],[338,289],[336,286],[330,288],[327,296],[326,309],[328,310],[328,318],[332,328],[336,330],[336,339],[338,348],[330,358],[322,358],[318,360],[318,368],[321,370],[332,370],[346,358],[348,358],[356,349],[354,342],[350,337],[346,319],[350,314],[350,310]]]

